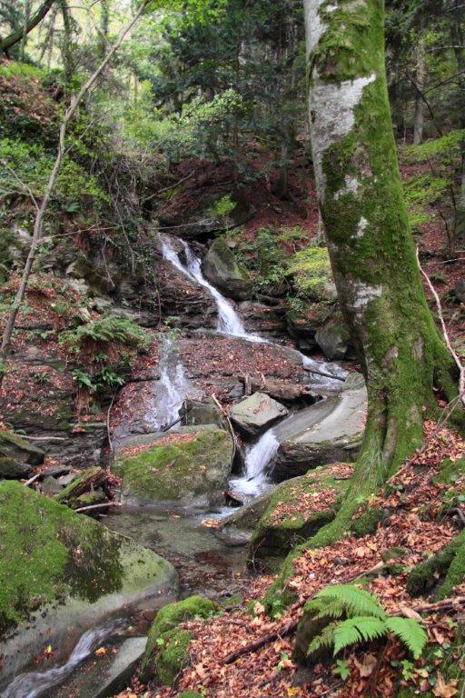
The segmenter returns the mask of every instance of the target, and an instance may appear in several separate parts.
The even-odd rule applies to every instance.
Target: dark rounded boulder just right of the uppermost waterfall
[[[203,274],[224,295],[243,301],[251,294],[247,272],[238,264],[224,237],[217,237],[203,260]]]

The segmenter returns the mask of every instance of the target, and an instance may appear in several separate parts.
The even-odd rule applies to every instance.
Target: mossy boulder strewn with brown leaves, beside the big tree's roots
[[[295,545],[332,521],[351,474],[351,465],[336,463],[280,484],[252,535],[249,558],[276,568]]]

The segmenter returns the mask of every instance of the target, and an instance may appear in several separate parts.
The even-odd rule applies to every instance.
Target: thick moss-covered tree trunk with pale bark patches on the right
[[[341,310],[368,385],[351,492],[315,544],[339,537],[360,501],[420,446],[456,366],[420,282],[402,197],[384,64],[383,0],[304,0],[313,165]]]

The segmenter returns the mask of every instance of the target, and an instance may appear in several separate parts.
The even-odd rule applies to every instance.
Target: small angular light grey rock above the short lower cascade
[[[246,436],[258,436],[288,414],[287,407],[265,393],[254,393],[230,411],[233,424]]]

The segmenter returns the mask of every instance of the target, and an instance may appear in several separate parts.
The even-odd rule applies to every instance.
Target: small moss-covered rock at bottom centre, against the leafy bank
[[[187,646],[191,633],[179,628],[180,623],[195,617],[207,618],[216,605],[203,596],[164,606],[153,621],[141,664],[141,679],[156,678],[163,685],[172,685],[183,665],[188,663]]]

